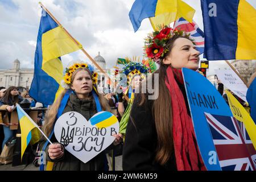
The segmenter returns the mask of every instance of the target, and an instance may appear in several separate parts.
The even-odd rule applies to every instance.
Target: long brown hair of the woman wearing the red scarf
[[[170,51],[166,54],[166,56],[171,52],[171,49],[174,47],[174,42],[178,38],[189,39],[187,36],[174,36],[167,43]],[[161,61],[159,69],[152,73],[153,84],[155,74],[159,74],[159,96],[153,102],[152,117],[155,121],[158,140],[155,160],[162,165],[165,164],[168,159],[170,159],[170,157],[174,154],[174,141],[172,138],[172,102],[170,92],[165,84],[165,79],[167,76],[166,70],[170,66],[171,65],[163,64],[163,61]],[[147,94],[139,95],[139,105],[143,105],[144,102],[147,100]],[[131,121],[134,122],[134,119],[131,118]]]

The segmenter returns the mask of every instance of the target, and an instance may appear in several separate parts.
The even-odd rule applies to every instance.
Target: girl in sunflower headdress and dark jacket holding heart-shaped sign
[[[44,132],[52,142],[57,142],[53,134],[56,118],[69,111],[76,111],[89,121],[98,111],[109,111],[109,105],[104,96],[97,92],[98,74],[90,64],[75,63],[66,68],[64,76],[64,91],[55,100],[46,113]],[[114,144],[121,142],[120,134],[114,135]],[[67,139],[68,142],[68,139]],[[105,152],[101,152],[87,163],[81,162],[67,150],[63,144],[53,143],[46,148],[47,161],[53,162],[53,170],[93,171],[106,170],[108,164]]]

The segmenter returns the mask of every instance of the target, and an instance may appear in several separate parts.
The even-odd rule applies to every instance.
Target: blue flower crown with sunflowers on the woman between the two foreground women
[[[127,83],[130,84],[134,75],[141,75],[142,73],[147,75],[148,68],[142,63],[129,62],[120,73],[124,73],[127,76]],[[143,75],[142,78],[144,79]]]

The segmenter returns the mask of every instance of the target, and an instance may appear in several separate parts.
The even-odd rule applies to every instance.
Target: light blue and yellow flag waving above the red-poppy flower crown
[[[160,25],[168,25],[181,17],[192,23],[194,14],[195,10],[181,0],[136,0],[129,16],[136,32],[145,18],[150,18],[151,26],[158,30]]]

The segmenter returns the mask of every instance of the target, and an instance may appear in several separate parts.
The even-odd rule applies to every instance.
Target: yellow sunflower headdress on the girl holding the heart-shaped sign
[[[70,88],[71,86],[71,77],[73,72],[76,71],[76,69],[79,68],[88,68],[90,71],[90,74],[92,75],[92,82],[93,85],[97,85],[97,81],[98,81],[98,73],[95,72],[95,69],[92,65],[88,64],[88,63],[84,63],[82,61],[75,61],[72,63],[69,63],[66,71],[65,71],[65,75],[64,75],[64,81],[62,83],[62,86],[66,89]]]

